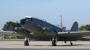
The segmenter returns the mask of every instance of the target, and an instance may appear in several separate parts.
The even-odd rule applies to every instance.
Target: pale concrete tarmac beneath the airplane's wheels
[[[24,41],[0,41],[0,50],[90,50],[90,41],[73,41],[70,43],[58,41],[57,46],[51,46],[51,41],[30,41],[30,46],[24,46]]]

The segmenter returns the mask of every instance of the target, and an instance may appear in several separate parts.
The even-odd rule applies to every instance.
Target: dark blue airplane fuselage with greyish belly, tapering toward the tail
[[[27,19],[23,27],[30,32],[47,35],[57,34],[57,32],[62,31],[59,27],[36,18]]]

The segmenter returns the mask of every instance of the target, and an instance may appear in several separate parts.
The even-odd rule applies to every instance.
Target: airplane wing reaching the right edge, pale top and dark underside
[[[90,31],[58,32],[61,38],[83,38],[90,35]]]

